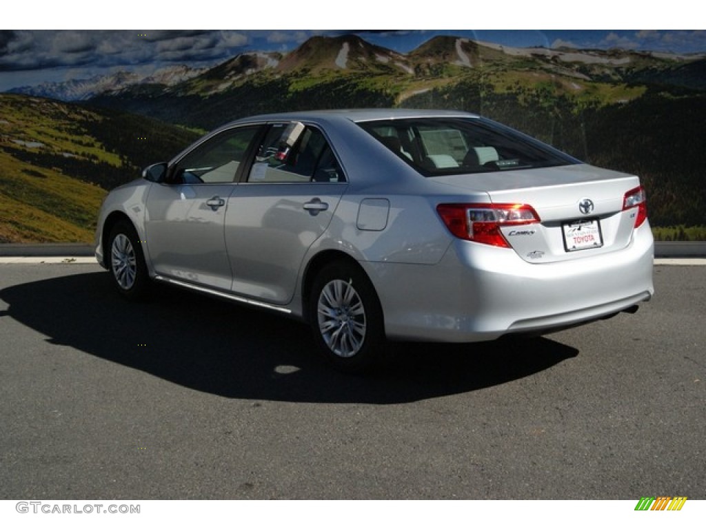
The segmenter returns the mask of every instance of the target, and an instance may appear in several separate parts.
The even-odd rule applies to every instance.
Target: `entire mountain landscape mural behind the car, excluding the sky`
[[[0,95],[0,242],[89,241],[102,195],[250,114],[461,109],[638,174],[653,226],[706,226],[706,56],[503,47],[440,36],[402,54],[356,35],[213,68],[121,71]]]

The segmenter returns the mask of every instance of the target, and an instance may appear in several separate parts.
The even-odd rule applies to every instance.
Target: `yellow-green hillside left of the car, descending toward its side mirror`
[[[150,118],[0,95],[0,243],[92,241],[107,190],[197,134]]]

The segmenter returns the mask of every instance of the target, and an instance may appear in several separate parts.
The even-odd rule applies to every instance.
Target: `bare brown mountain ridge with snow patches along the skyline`
[[[287,53],[247,51],[210,68],[189,65],[160,68],[150,75],[119,71],[90,79],[16,87],[8,92],[62,101],[85,101],[116,93],[145,92],[214,95],[231,90],[253,75],[325,75],[364,73],[419,80],[462,75],[469,69],[539,68],[582,80],[650,80],[686,87],[706,85],[706,73],[690,64],[703,54],[665,54],[623,49],[557,49],[506,47],[454,35],[437,35],[407,53],[371,44],[358,35],[316,36]],[[684,75],[684,71],[688,75]],[[693,68],[691,68],[693,70]],[[686,79],[686,81],[685,81]],[[685,84],[686,83],[686,84]]]

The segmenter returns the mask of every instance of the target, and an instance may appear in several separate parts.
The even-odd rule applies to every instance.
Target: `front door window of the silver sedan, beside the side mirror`
[[[206,140],[179,160],[172,172],[174,183],[231,183],[250,144],[261,130],[246,126],[225,130]]]

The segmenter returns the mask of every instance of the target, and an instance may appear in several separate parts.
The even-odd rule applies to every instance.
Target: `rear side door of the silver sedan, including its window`
[[[346,188],[321,130],[301,123],[271,125],[229,200],[225,244],[232,291],[288,303],[306,251],[328,227]]]

